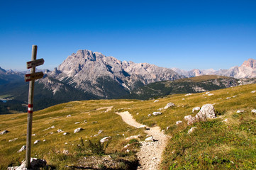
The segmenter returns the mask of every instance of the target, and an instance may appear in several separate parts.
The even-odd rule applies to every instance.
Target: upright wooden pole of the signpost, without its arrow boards
[[[38,46],[32,46],[31,60],[36,60],[36,54],[38,52]],[[35,67],[31,67],[30,74],[35,73]],[[34,98],[34,85],[35,80],[29,81],[28,89],[28,126],[27,126],[27,143],[26,143],[26,168],[30,169],[30,157],[31,157],[31,135],[32,135],[32,120],[33,120],[33,98]]]

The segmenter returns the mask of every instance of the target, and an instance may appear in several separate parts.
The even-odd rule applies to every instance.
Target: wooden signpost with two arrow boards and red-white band
[[[30,169],[30,157],[31,157],[31,135],[32,135],[32,120],[33,120],[33,98],[34,98],[34,86],[35,79],[43,78],[43,72],[35,72],[35,67],[42,65],[45,60],[36,60],[36,54],[38,52],[38,46],[32,46],[31,61],[27,62],[27,68],[30,69],[30,74],[25,75],[25,81],[29,81],[28,89],[28,127],[27,127],[27,143],[26,143],[26,168]]]

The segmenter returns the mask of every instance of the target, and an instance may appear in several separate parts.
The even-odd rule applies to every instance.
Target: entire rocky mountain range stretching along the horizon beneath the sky
[[[6,71],[0,67],[0,97],[8,96],[18,103],[28,101],[28,83],[24,82],[24,74],[25,72]],[[44,74],[43,79],[35,81],[34,105],[38,110],[67,101],[121,98],[147,84],[204,74],[236,79],[253,78],[256,77],[256,60],[249,59],[240,67],[218,71],[185,71],[148,63],[122,62],[100,52],[78,50],[69,55],[59,67],[53,71],[45,70]]]

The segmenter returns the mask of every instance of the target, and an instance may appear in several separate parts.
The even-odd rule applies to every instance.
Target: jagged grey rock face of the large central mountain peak
[[[58,69],[48,73],[48,76],[59,81],[67,81],[67,84],[77,89],[90,91],[101,97],[106,96],[106,93],[115,93],[115,89],[109,89],[111,84],[121,88],[118,93],[129,93],[138,84],[183,78],[172,69],[148,63],[121,62],[114,57],[106,57],[90,50],[78,50],[77,53],[73,53]]]

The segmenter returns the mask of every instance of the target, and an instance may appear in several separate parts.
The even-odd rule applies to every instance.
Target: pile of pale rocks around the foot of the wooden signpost
[[[46,166],[46,161],[44,159],[30,159],[31,169],[39,170]],[[26,170],[26,161],[23,161],[21,166],[9,167],[8,170]]]

